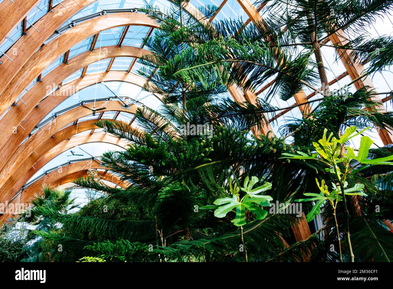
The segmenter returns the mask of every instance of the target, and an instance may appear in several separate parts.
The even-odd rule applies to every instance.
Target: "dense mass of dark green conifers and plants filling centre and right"
[[[32,246],[39,249],[34,254],[29,249],[31,259],[46,260],[40,252],[50,252],[50,261],[92,262],[393,260],[392,233],[385,226],[393,219],[393,151],[361,143],[355,155],[347,138],[369,127],[393,129],[393,117],[378,109],[370,87],[350,94],[346,87],[339,92],[326,88],[318,54],[327,35],[365,32],[364,23],[393,2],[367,1],[367,9],[361,0],[352,1],[352,8],[341,0],[272,2],[269,9],[281,7],[283,17],[245,28],[240,20],[209,22],[217,7],[204,7],[202,18],[192,18],[181,0],[166,13],[145,9],[162,24],[143,41],[151,55],[138,61],[145,67],[144,89],[162,96],[163,105],[137,110],[135,122],[143,131],[117,121],[96,123],[129,142],[125,151],[108,151],[101,158],[127,188],[89,175],[75,184],[103,195],[77,213],[66,212],[72,200],[56,205],[63,203],[57,193],[49,204],[36,203],[33,217],[39,227],[30,234],[38,236]],[[372,53],[380,43],[390,45],[382,38],[356,37],[353,46],[338,48],[350,51],[352,60],[370,61],[367,76],[383,68],[379,57],[387,59],[384,65],[393,61],[388,49],[379,57]],[[222,97],[228,87],[253,93],[272,76],[268,93],[256,102]],[[322,89],[315,88],[319,83]],[[281,137],[258,134],[255,126],[265,125],[266,116],[286,109],[269,100],[288,100],[303,87],[323,96],[307,102],[318,105],[283,127]],[[197,125],[202,129],[197,131]],[[315,145],[320,140],[323,149]],[[332,163],[321,162],[331,140],[336,140]],[[360,167],[381,158],[386,163]],[[352,173],[346,174],[349,164]],[[345,172],[343,181],[338,171]],[[314,198],[304,199],[304,194]],[[50,196],[44,188],[42,198]],[[271,210],[270,204],[286,208],[295,200],[307,220],[296,212]],[[318,229],[316,215],[323,224]],[[296,239],[298,222],[307,221],[312,233]]]

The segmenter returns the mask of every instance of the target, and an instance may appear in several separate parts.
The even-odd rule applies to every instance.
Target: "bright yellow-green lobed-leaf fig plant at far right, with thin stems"
[[[347,146],[344,148],[346,142],[348,142],[351,138],[362,134],[366,129],[357,132],[356,127],[352,126],[349,127],[345,133],[337,139],[333,136],[333,133],[330,133],[327,136],[327,129],[324,130],[323,138],[318,140],[317,142],[313,142],[314,149],[316,153],[312,155],[307,155],[306,153],[302,153],[298,151],[298,155],[290,154],[290,153],[283,153],[287,158],[294,158],[294,159],[315,159],[320,162],[326,164],[329,168],[325,168],[327,172],[334,174],[334,178],[337,180],[337,184],[332,183],[332,190],[329,191],[328,186],[325,184],[325,180],[322,180],[321,185],[317,185],[320,189],[320,193],[305,193],[306,196],[312,196],[311,198],[307,199],[299,199],[297,201],[316,201],[316,204],[312,208],[311,212],[307,215],[307,220],[314,219],[316,214],[320,214],[320,206],[325,202],[329,201],[334,209],[334,219],[336,222],[336,229],[338,240],[340,242],[340,234],[338,232],[338,224],[336,219],[336,207],[339,201],[343,201],[343,208],[344,208],[344,218],[345,218],[345,232],[347,234],[347,242],[349,247],[349,253],[351,256],[351,261],[354,261],[354,255],[351,246],[351,237],[349,234],[349,215],[347,209],[347,202],[345,195],[365,195],[362,190],[364,188],[363,184],[356,184],[352,188],[347,188],[347,177],[348,175],[357,173],[365,168],[369,168],[373,165],[393,165],[393,162],[389,162],[389,160],[393,160],[393,155],[386,156],[384,158],[374,158],[374,159],[367,159],[369,156],[369,149],[373,141],[368,136],[362,136],[360,139],[359,145],[359,152],[356,156],[354,154],[354,149]],[[346,152],[345,153],[345,149]],[[352,160],[356,160],[353,164]],[[343,164],[344,168],[340,167],[339,164]],[[361,164],[366,164],[362,168],[356,169]],[[340,244],[340,243],[339,243]],[[342,261],[341,256],[341,245],[340,245],[340,258]]]

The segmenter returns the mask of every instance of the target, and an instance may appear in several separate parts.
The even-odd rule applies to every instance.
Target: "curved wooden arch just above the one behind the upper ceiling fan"
[[[100,72],[98,74],[88,74],[85,77],[79,77],[74,81],[63,85],[61,90],[58,89],[53,92],[50,96],[42,100],[38,107],[31,110],[27,116],[17,121],[17,123],[20,123],[24,120],[22,123],[24,129],[19,127],[16,131],[17,133],[13,133],[9,136],[6,143],[0,149],[0,160],[8,160],[10,158],[10,156],[18,148],[19,144],[28,137],[31,131],[33,131],[35,125],[42,120],[42,116],[48,115],[53,109],[55,109],[55,107],[57,107],[57,105],[77,93],[79,90],[94,85],[97,82],[97,79],[98,83],[101,81],[124,81],[140,87],[145,83],[145,79],[140,75],[123,71],[111,71]],[[161,97],[158,98],[161,99]],[[16,126],[15,123],[14,126]],[[5,161],[0,161],[0,170],[3,168],[4,164],[6,164]]]

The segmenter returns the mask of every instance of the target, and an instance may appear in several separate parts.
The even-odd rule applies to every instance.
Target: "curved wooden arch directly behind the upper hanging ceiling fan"
[[[92,108],[94,103],[86,104],[86,107]],[[120,101],[99,101],[95,103],[95,107],[103,108],[103,111],[123,111],[135,114],[136,109],[138,106],[131,105],[129,109],[125,109],[122,107],[122,103]],[[64,140],[64,132],[66,130],[60,131],[66,125],[72,123],[73,121],[82,118],[84,116],[90,115],[92,112],[85,107],[75,107],[74,109],[61,114],[59,117],[54,118],[50,122],[46,123],[39,131],[33,134],[28,140],[26,140],[23,144],[21,144],[15,153],[6,161],[6,166],[3,167],[2,171],[0,172],[0,188],[3,191],[3,186],[5,183],[10,183],[11,179],[15,179],[16,171],[19,166],[22,164],[26,165],[28,159],[34,160],[39,156],[44,155],[48,149],[45,149],[44,146],[40,146],[41,144],[49,145],[53,142],[59,142]],[[95,120],[92,120],[93,122]],[[79,127],[79,125],[78,125]],[[76,128],[76,127],[75,127]],[[67,128],[66,128],[67,129]],[[71,126],[70,130],[73,127]],[[57,133],[59,132],[59,133]],[[75,134],[75,133],[74,133]],[[66,138],[72,136],[69,134]],[[53,146],[52,146],[53,147]],[[40,150],[39,150],[40,148]],[[31,165],[34,162],[31,163]],[[29,166],[28,166],[29,167]]]

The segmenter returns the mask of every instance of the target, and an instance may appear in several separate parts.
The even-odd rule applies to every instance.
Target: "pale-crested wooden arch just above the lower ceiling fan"
[[[92,121],[88,123],[89,121],[84,121],[84,123],[80,123],[81,127],[79,128],[78,131],[88,131],[89,129],[94,129],[97,128]],[[73,125],[71,127],[74,127]],[[35,159],[27,159],[26,160],[26,166],[22,166],[19,168],[19,171],[17,171],[18,177],[13,178],[10,180],[10,184],[5,186],[4,190],[4,197],[0,197],[0,200],[2,202],[9,201],[11,200],[17,193],[18,191],[28,182],[31,177],[33,177],[37,171],[39,171],[41,168],[43,168],[48,162],[50,162],[53,158],[56,156],[60,155],[64,151],[68,151],[69,149],[72,149],[73,147],[77,145],[82,145],[82,144],[90,144],[94,142],[100,142],[100,143],[107,143],[107,144],[114,144],[118,145],[119,147],[126,148],[127,143],[124,142],[123,140],[119,140],[118,137],[113,136],[111,134],[105,134],[105,133],[94,133],[94,134],[81,134],[81,135],[75,135],[75,127],[68,129],[69,127],[63,129],[61,131],[62,138],[68,136],[68,138],[64,138],[63,140],[59,136],[59,142],[51,142],[51,144],[43,144],[40,148],[37,149],[37,153],[42,153],[37,158]],[[29,165],[32,164],[30,167],[28,167],[27,163],[29,162]],[[11,184],[12,182],[12,184]]]

